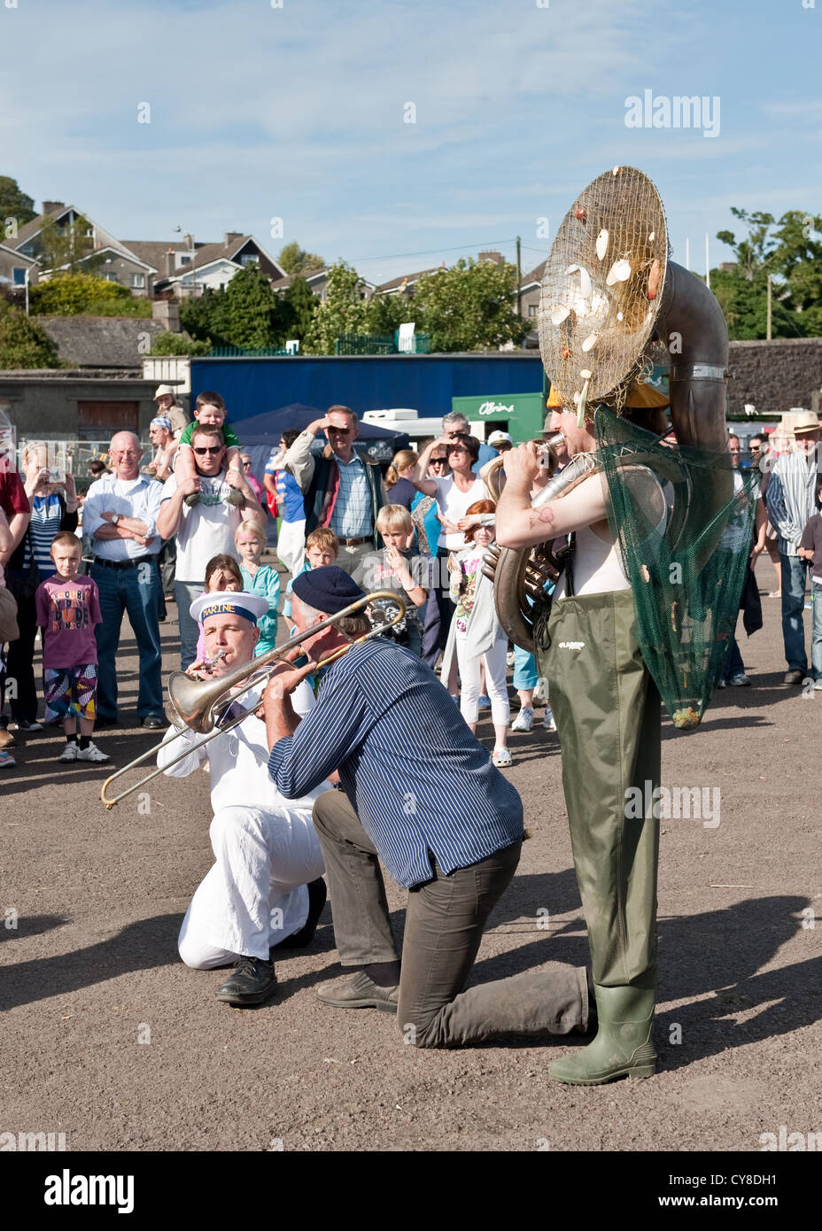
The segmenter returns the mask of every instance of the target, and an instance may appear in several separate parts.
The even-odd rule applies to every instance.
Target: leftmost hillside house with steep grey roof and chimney
[[[47,219],[54,222],[60,229],[74,227],[80,220],[85,223],[87,255],[80,259],[80,268],[89,262],[97,277],[128,287],[133,295],[151,295],[154,293],[153,266],[94,222],[89,214],[79,211],[76,206],[66,206],[63,201],[44,201],[43,212],[21,227],[17,234],[6,241],[7,246],[16,252],[38,262],[42,281],[58,272],[43,267],[42,233]]]

